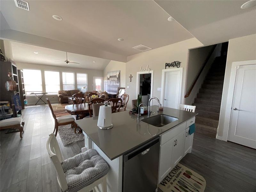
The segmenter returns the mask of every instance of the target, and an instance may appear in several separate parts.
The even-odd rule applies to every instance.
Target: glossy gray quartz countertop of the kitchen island
[[[156,112],[157,109],[158,106],[151,106],[152,111]],[[112,114],[113,128],[108,130],[101,130],[97,126],[98,117],[84,118],[75,122],[106,156],[113,160],[197,115],[166,107],[160,113],[176,117],[178,120],[163,127],[155,127],[140,121],[147,118],[147,115],[141,116],[138,120],[137,116],[130,115],[129,111],[123,111]]]

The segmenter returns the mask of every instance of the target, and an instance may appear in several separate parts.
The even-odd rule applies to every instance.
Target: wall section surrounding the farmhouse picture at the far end
[[[106,89],[104,81],[107,80],[108,72],[117,70],[120,70],[120,87],[125,87],[125,63],[111,60],[103,70],[104,90]]]

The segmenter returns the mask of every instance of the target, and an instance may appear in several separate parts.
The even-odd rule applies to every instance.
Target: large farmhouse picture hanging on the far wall
[[[120,87],[120,70],[109,71],[107,75],[107,84],[106,84],[107,92],[111,94],[116,94],[118,87]]]

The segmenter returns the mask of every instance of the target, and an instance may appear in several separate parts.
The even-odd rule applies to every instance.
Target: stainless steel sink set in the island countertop
[[[167,124],[172,123],[177,120],[178,119],[175,117],[171,117],[171,116],[164,115],[164,114],[159,114],[156,116],[148,117],[146,119],[142,119],[141,121],[143,121],[147,124],[151,124],[156,127],[163,127],[164,125],[167,125]]]

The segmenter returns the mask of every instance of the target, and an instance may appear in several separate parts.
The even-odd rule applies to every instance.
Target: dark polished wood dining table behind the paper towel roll
[[[78,115],[79,119],[83,119],[87,115],[89,115],[89,105],[88,103],[82,103],[82,104],[73,104],[73,105],[66,105],[65,110],[70,115]],[[92,111],[92,108],[91,108]],[[82,133],[82,129],[79,127],[78,133]]]

